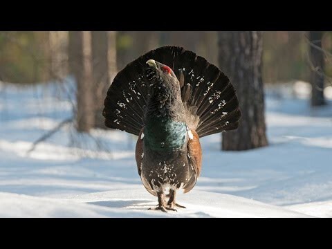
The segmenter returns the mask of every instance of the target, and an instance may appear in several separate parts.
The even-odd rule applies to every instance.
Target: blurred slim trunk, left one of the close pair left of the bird
[[[77,82],[76,129],[88,132],[94,125],[94,94],[91,63],[91,32],[69,33],[69,64]]]

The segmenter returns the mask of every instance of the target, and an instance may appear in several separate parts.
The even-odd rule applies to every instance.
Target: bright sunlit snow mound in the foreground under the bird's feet
[[[156,200],[145,190],[116,190],[51,199],[1,193],[1,217],[310,217],[238,196],[193,191],[181,196],[186,209],[150,211]],[[204,203],[204,204],[203,204]]]

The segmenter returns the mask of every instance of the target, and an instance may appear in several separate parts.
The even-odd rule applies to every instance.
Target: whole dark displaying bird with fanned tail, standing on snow
[[[192,190],[201,173],[199,138],[237,129],[241,111],[219,68],[184,48],[163,46],[116,75],[103,115],[107,127],[138,136],[138,174],[158,196],[150,210],[167,212],[185,208],[176,203],[176,191]]]

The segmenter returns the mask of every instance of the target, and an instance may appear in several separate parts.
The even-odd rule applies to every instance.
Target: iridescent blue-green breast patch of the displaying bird
[[[185,145],[187,125],[172,118],[151,118],[145,124],[145,146],[154,151],[174,151]]]

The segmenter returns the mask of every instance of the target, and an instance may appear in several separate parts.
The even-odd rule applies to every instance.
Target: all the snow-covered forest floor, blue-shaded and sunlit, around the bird
[[[0,216],[332,217],[332,103],[311,109],[302,83],[266,91],[270,146],[225,152],[220,134],[202,138],[201,177],[178,195],[187,209],[167,214],[147,210],[157,202],[140,182],[134,136],[66,124],[28,152],[72,116],[74,90],[0,84]]]

